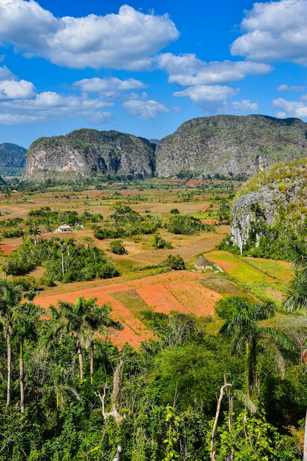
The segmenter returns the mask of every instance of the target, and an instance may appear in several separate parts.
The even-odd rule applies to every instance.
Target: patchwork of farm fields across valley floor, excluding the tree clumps
[[[212,182],[214,189],[209,189],[207,182],[166,181],[153,180],[150,187],[148,183],[140,183],[138,187],[128,185],[125,188],[122,188],[121,184],[105,184],[102,190],[87,187],[73,191],[71,186],[58,186],[43,192],[19,191],[9,197],[2,195],[0,223],[19,218],[23,219],[19,226],[26,235],[33,223],[36,223],[40,231],[37,239],[43,238],[48,242],[56,239],[62,242],[62,245],[67,245],[68,240],[72,239],[75,245],[95,246],[104,251],[105,258],[110,260],[120,273],[119,277],[110,279],[95,278],[72,283],[55,280],[55,286],[41,287],[35,302],[46,309],[47,316],[50,315],[48,306],[56,305],[59,299],[74,302],[77,296],[97,297],[98,304],[109,303],[112,306],[112,315],[124,325],[118,336],[112,336],[112,341],[119,347],[128,342],[136,348],[141,341],[152,337],[150,326],[143,322],[142,311],[146,309],[154,309],[165,314],[178,311],[206,317],[214,315],[214,303],[225,296],[248,296],[251,301],[267,297],[280,301],[280,284],[291,277],[286,263],[241,258],[214,249],[225,234],[230,232],[229,225],[219,224],[216,219],[220,208],[219,200],[228,200],[229,190],[226,191],[220,181]],[[206,189],[200,189],[201,187]],[[234,192],[238,188],[239,186],[233,188]],[[152,234],[149,233],[122,237],[125,254],[111,253],[110,243],[114,239],[98,239],[94,235],[95,229],[104,226],[105,222],[111,221],[113,225],[110,215],[116,207],[121,206],[130,207],[133,212],[144,217],[143,219],[146,216],[162,219],[158,234],[169,242],[172,248],[154,249]],[[74,211],[78,215],[95,214],[100,216],[101,221],[97,224],[91,221],[84,222],[82,229],[59,234],[55,232],[55,225],[49,225],[46,229],[46,226],[41,224],[40,210],[45,209],[49,209],[51,213]],[[175,209],[176,213],[179,212],[176,216],[186,215],[200,219],[202,223],[216,224],[209,231],[173,233],[165,226],[168,219],[174,217],[170,213],[172,209]],[[31,220],[28,222],[29,217]],[[110,228],[110,224],[108,225]],[[0,231],[6,228],[0,225]],[[0,242],[0,248],[3,250],[0,263],[3,263],[22,242],[23,237],[4,238]],[[213,270],[198,271],[194,264],[202,254],[225,272],[217,271],[215,266]],[[161,269],[161,264],[168,255],[179,255],[183,258],[186,270],[165,272]],[[24,277],[30,277],[40,286],[38,281],[45,276],[45,271],[45,267],[36,266],[24,274]],[[3,273],[2,276],[4,275]],[[14,279],[12,276],[9,278]]]

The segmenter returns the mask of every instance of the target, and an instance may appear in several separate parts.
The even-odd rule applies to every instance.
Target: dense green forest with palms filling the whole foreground
[[[306,244],[288,257],[288,316],[229,296],[215,335],[211,317],[147,309],[154,337],[137,350],[109,340],[111,306],[58,301],[46,319],[34,288],[1,281],[0,460],[112,460],[119,446],[124,461],[301,459]]]

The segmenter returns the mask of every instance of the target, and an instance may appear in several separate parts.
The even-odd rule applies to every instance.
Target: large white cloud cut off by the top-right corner
[[[231,45],[233,56],[253,61],[306,64],[306,0],[254,3],[241,23],[246,31]]]

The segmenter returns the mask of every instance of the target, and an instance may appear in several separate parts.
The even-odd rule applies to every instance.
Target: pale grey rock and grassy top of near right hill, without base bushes
[[[296,234],[307,225],[307,159],[273,165],[253,177],[232,207],[231,233],[240,248],[247,243],[251,222],[289,225]],[[256,235],[259,241],[260,235]],[[257,246],[257,243],[256,243]]]

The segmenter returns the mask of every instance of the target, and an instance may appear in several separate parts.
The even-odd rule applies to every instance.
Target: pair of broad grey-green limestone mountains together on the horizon
[[[74,181],[108,172],[144,177],[253,176],[277,162],[305,156],[307,124],[299,118],[215,115],[192,118],[161,141],[90,129],[39,138],[28,150],[21,180]]]

